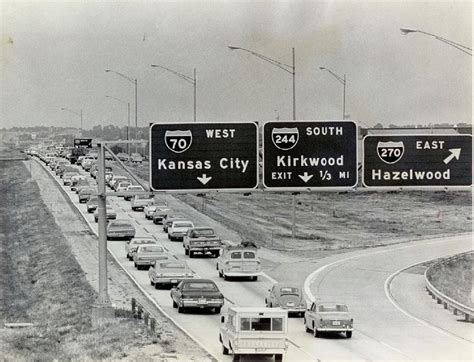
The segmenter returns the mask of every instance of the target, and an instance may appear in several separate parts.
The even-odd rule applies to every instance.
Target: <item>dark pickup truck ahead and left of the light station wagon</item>
[[[183,238],[184,254],[190,258],[194,257],[195,253],[210,253],[217,257],[221,246],[221,239],[211,227],[190,228]]]

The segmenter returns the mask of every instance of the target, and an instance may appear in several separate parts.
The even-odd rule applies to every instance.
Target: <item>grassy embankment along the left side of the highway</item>
[[[0,355],[7,360],[118,359],[132,347],[157,343],[133,319],[91,324],[96,293],[19,162],[0,164]],[[161,350],[160,345],[156,345]]]

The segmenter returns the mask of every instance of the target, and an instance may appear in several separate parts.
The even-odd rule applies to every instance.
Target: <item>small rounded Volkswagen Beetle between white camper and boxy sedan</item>
[[[276,283],[268,289],[265,305],[269,308],[282,308],[288,314],[295,313],[301,317],[306,312],[306,300],[301,287],[288,283]]]

